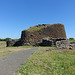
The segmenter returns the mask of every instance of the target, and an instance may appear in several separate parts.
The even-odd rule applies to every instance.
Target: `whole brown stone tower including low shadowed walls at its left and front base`
[[[66,33],[63,24],[42,24],[30,27],[27,30],[23,30],[21,40],[8,40],[7,46],[52,46],[56,45],[56,41],[65,39]]]

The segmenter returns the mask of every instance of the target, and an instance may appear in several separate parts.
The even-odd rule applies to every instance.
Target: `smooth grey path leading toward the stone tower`
[[[0,57],[0,75],[15,75],[27,58],[38,48],[31,48]]]

